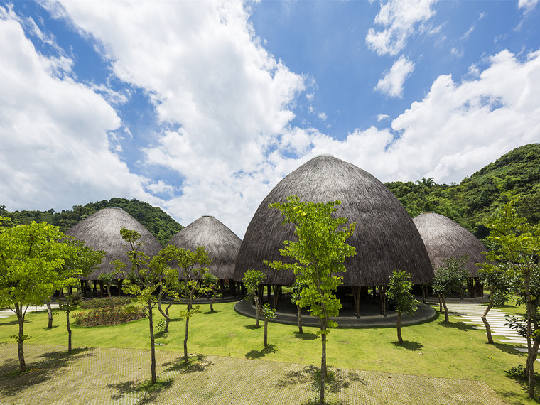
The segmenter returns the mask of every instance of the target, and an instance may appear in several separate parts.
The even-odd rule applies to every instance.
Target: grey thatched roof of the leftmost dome
[[[141,247],[142,252],[154,256],[161,250],[158,239],[126,211],[116,207],[104,208],[65,232],[65,234],[85,242],[85,245],[93,247],[95,250],[106,252],[101,267],[95,270],[88,279],[97,280],[99,274],[114,271],[114,265],[111,264],[111,261],[115,259],[119,259],[129,266],[129,259],[126,255],[129,244],[121,237],[121,227],[141,234],[139,240],[144,241]]]

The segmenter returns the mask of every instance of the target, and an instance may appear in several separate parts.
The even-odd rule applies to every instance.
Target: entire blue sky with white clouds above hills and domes
[[[138,198],[243,237],[330,153],[459,182],[540,141],[540,6],[0,1],[0,204]]]

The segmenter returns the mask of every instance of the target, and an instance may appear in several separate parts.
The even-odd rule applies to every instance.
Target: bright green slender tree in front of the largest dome
[[[356,254],[355,248],[345,241],[355,230],[355,223],[345,225],[347,218],[334,218],[335,202],[302,202],[296,195],[287,202],[271,204],[285,217],[283,224],[292,223],[298,242],[285,241],[280,249],[283,257],[291,257],[293,263],[265,261],[274,269],[294,271],[296,280],[305,284],[300,293],[300,306],[309,308],[311,315],[318,318],[321,338],[320,360],[320,403],[324,403],[326,378],[326,335],[337,323],[330,317],[338,316],[341,302],[335,291],[342,284],[342,278],[333,273],[345,271],[346,257]]]

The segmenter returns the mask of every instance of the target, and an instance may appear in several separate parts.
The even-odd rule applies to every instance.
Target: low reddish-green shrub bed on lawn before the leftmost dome
[[[77,326],[118,325],[145,317],[143,308],[136,306],[94,308],[73,314]]]

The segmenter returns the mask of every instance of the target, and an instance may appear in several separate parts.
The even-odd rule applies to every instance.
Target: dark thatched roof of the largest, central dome
[[[422,239],[390,190],[357,166],[333,156],[317,156],[281,180],[259,205],[240,247],[235,280],[240,281],[248,269],[257,269],[266,274],[268,284],[293,284],[292,272],[274,271],[263,264],[263,259],[283,259],[279,249],[284,240],[296,240],[293,225],[281,225],[279,210],[268,207],[285,202],[288,195],[313,202],[340,200],[336,214],[356,222],[347,243],[357,254],[345,261],[345,285],[387,285],[396,269],[409,271],[416,284],[433,279]]]

